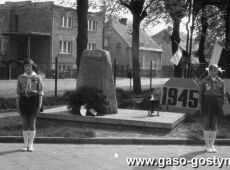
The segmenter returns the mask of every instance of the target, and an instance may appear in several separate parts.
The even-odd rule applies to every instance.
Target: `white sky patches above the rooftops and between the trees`
[[[4,4],[5,2],[19,2],[19,1],[26,1],[26,0],[0,0],[0,4]],[[31,0],[32,2],[44,2],[44,1],[54,1],[55,4],[58,4],[59,2],[61,2],[62,0]],[[71,2],[75,2],[76,0],[69,0]],[[125,14],[124,17],[127,17],[129,21],[132,22],[132,15],[131,14]],[[184,19],[181,23],[181,30],[184,33],[187,33],[186,31],[186,27],[185,27],[185,23],[186,23],[186,19]],[[145,28],[145,31],[147,32],[147,34],[149,34],[150,36],[160,32],[162,29],[167,28],[168,26],[164,23],[162,24],[158,24],[157,26],[154,27],[148,27]]]

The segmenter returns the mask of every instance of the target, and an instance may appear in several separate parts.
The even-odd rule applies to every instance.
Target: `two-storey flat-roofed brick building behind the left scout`
[[[76,68],[76,9],[51,1],[6,2],[0,4],[0,31],[0,67],[7,63],[8,68],[16,68],[18,61],[31,58],[45,74],[54,69],[58,57],[60,69]],[[102,14],[89,13],[89,49],[102,48],[102,34]]]

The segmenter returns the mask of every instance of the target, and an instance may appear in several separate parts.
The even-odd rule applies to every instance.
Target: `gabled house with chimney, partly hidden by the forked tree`
[[[126,18],[106,24],[104,46],[110,52],[112,62],[116,59],[117,70],[132,69],[132,25],[127,24]],[[139,47],[141,74],[149,73],[151,62],[152,68],[160,71],[163,50],[141,29]]]

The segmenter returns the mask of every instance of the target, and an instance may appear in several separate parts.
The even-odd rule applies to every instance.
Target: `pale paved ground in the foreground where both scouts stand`
[[[230,146],[217,146],[218,153],[206,153],[203,146],[189,145],[72,145],[35,144],[34,152],[21,152],[22,144],[0,144],[2,170],[191,170],[205,160],[230,157]],[[128,166],[126,158],[158,158],[158,166]],[[164,166],[164,159],[192,161],[187,166]],[[200,159],[198,159],[200,158]],[[224,159],[219,159],[224,160]],[[226,160],[226,159],[225,159]],[[168,162],[169,163],[169,162]],[[208,162],[206,162],[208,163]],[[201,170],[229,170],[212,165],[199,165]],[[220,163],[216,165],[221,165]]]

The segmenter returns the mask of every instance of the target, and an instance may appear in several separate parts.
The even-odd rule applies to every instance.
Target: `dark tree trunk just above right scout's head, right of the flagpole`
[[[208,30],[208,20],[204,8],[202,9],[201,26],[202,26],[202,30],[201,30],[199,49],[198,49],[198,56],[199,56],[199,62],[205,63],[206,60],[204,56],[204,48],[205,48],[205,39],[206,39],[205,37]]]

